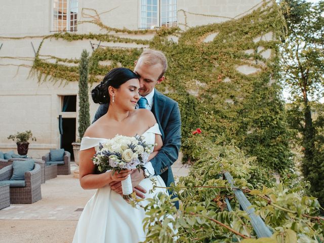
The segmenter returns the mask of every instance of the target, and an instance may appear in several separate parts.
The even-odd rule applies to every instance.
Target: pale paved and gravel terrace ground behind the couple
[[[71,163],[71,172],[76,168]],[[177,180],[187,175],[189,168],[176,161],[172,171]],[[42,184],[42,200],[0,210],[0,243],[70,242],[77,220],[95,191],[80,187],[73,173],[46,181]]]

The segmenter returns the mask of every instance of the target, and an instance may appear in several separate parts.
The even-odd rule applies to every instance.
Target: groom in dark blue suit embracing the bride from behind
[[[136,108],[146,108],[153,112],[158,127],[162,134],[163,147],[158,154],[152,158],[145,168],[135,170],[132,177],[132,184],[136,185],[134,191],[142,198],[146,192],[138,184],[144,179],[154,175],[159,175],[167,186],[174,182],[171,166],[177,160],[181,145],[181,117],[178,103],[171,98],[159,93],[154,89],[155,85],[160,84],[166,78],[164,76],[168,67],[166,56],[155,50],[145,50],[139,59],[135,61],[134,72],[140,80],[140,96],[142,97]],[[99,106],[93,123],[107,113],[108,104]],[[121,183],[110,183],[111,189],[121,194]],[[176,201],[179,208],[179,202]]]

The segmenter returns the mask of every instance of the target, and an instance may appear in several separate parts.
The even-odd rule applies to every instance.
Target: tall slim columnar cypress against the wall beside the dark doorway
[[[83,50],[79,63],[79,119],[78,132],[79,138],[82,139],[87,128],[90,126],[90,104],[89,104],[89,87],[88,87],[88,64],[89,53]]]

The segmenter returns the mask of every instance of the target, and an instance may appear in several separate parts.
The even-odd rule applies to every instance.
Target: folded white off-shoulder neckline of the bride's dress
[[[145,139],[144,141],[147,144],[154,144],[155,143],[155,134],[161,135],[161,132],[158,128],[158,124],[155,123],[152,127],[146,130],[141,136]],[[86,150],[88,148],[95,148],[96,151],[98,149],[99,143],[107,142],[109,139],[107,138],[90,138],[90,137],[83,137],[81,140],[80,150]]]

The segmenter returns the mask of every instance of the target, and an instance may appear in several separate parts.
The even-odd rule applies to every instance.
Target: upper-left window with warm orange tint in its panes
[[[53,31],[76,31],[77,0],[53,0]]]

